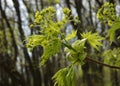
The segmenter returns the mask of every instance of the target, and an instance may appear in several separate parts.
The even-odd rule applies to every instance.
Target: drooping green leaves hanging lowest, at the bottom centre
[[[54,86],[76,86],[76,74],[73,66],[60,69],[53,77]]]

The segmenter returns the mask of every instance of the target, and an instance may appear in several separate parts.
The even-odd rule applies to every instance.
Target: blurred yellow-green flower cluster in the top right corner
[[[97,17],[99,20],[102,20],[104,22],[108,22],[109,26],[112,26],[112,24],[117,21],[117,16],[115,12],[115,4],[106,2],[97,13]]]

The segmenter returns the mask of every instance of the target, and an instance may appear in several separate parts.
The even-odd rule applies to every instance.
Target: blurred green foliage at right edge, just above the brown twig
[[[107,50],[103,53],[104,62],[114,66],[120,66],[120,48]]]

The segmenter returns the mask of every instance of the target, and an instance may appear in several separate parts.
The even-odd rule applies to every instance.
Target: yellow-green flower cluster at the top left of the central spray
[[[50,22],[50,20],[53,20],[54,16],[55,16],[55,9],[53,7],[48,7],[41,11],[37,11],[35,14],[35,20],[32,26],[40,25],[42,29],[47,28],[48,23],[52,23]],[[47,25],[44,25],[44,24],[47,24]]]

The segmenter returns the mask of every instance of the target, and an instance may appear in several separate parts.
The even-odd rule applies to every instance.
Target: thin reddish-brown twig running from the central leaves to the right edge
[[[93,62],[93,63],[95,63],[95,64],[100,64],[100,65],[102,65],[102,66],[106,66],[106,67],[109,67],[109,68],[120,69],[120,67],[118,67],[118,66],[112,66],[112,65],[109,65],[109,64],[105,64],[105,63],[103,63],[103,62],[94,60],[94,59],[89,58],[89,57],[86,57],[86,58],[85,58],[85,61],[87,61],[87,62]]]

